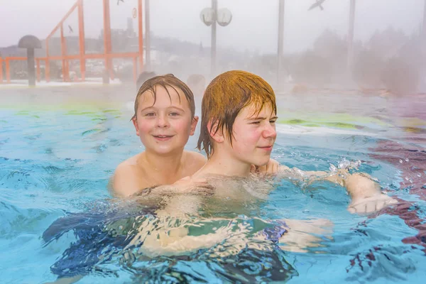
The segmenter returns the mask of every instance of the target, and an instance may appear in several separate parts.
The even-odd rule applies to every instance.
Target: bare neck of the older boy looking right
[[[247,177],[250,175],[250,169],[251,165],[236,160],[232,155],[229,155],[229,153],[215,151],[206,165],[199,171],[199,174]]]

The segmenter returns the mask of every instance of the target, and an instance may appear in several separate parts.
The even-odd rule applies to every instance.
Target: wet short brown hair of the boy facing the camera
[[[185,94],[185,97],[188,101],[188,104],[190,104],[191,116],[194,117],[194,115],[195,115],[195,102],[194,102],[194,94],[192,94],[191,89],[187,86],[187,84],[185,84],[184,82],[179,80],[173,74],[167,74],[167,75],[152,77],[151,79],[146,80],[142,84],[141,88],[139,88],[139,90],[138,90],[138,94],[136,94],[135,113],[131,117],[131,120],[136,119],[136,114],[138,112],[139,99],[141,98],[143,93],[150,91],[154,96],[154,104],[155,104],[155,102],[157,101],[157,95],[156,95],[156,87],[157,86],[163,87],[165,89],[165,91],[168,93],[169,97],[170,97],[170,93],[168,92],[167,87],[174,89],[179,96],[179,102],[181,102],[181,97],[180,97],[180,94],[178,92],[178,89],[181,89],[183,94]],[[170,101],[171,101],[171,99],[172,99],[172,97],[170,97]]]

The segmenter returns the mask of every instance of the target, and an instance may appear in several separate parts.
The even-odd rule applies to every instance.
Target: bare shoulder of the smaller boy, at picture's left
[[[145,185],[144,170],[136,163],[136,156],[120,163],[110,180],[112,194],[128,197],[138,192]]]

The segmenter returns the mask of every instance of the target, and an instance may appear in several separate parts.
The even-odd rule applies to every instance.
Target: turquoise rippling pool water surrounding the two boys
[[[318,101],[321,104],[302,109],[304,104],[297,97],[280,95],[282,114],[278,116],[285,124],[278,125],[273,158],[303,170],[328,170],[345,160],[361,161],[359,170],[378,178],[399,204],[370,216],[350,214],[344,188],[327,182],[305,187],[282,180],[266,202],[246,203],[241,212],[231,212],[225,202],[218,212],[185,223],[193,228],[205,226],[207,231],[231,226],[232,234],[220,244],[187,256],[148,258],[135,248],[124,249],[129,241],[126,226],[146,220],[156,224],[155,217],[138,214],[140,208],[134,204],[111,203],[107,190],[116,165],[143,150],[129,122],[133,96],[124,92],[111,88],[1,90],[1,283],[54,281],[60,265],[69,264],[71,269],[83,258],[90,273],[78,283],[276,279],[288,283],[423,283],[425,108],[417,108],[410,116],[406,105],[393,104],[392,109],[389,99],[325,96]],[[72,102],[65,99],[70,94],[75,94]],[[335,106],[327,109],[327,100],[335,104],[344,100],[345,115]],[[417,104],[424,102],[421,99]],[[187,148],[195,148],[194,138]],[[215,214],[229,221],[212,221]],[[62,217],[77,221],[65,229],[64,220],[70,219]],[[261,241],[259,250],[224,253],[236,249],[235,239],[255,246],[254,232],[278,226],[277,220],[284,218],[329,219],[334,227],[332,233],[319,236],[320,246],[306,253],[282,251],[272,241]],[[46,241],[43,236],[51,224],[60,226]],[[102,228],[114,226],[121,231],[108,237],[101,234]],[[97,253],[94,263],[87,261],[91,251]],[[60,262],[64,258],[67,261]],[[65,273],[66,268],[60,271]]]

